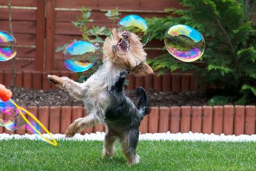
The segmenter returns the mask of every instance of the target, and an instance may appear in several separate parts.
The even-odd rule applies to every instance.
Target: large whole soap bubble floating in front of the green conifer
[[[205,51],[205,40],[200,32],[186,25],[170,27],[164,37],[168,52],[180,61],[198,60]]]

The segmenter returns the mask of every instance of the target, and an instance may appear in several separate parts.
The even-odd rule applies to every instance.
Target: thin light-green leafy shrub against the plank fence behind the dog
[[[120,12],[118,9],[110,9],[106,12],[105,16],[108,19],[113,20],[113,26],[116,23],[116,19],[119,19]],[[94,20],[90,18],[91,17],[91,9],[90,8],[81,8],[81,16],[77,17],[76,21],[73,21],[73,25],[78,28],[81,31],[81,40],[90,42],[92,44],[100,44],[100,47],[102,47],[104,40],[104,37],[108,37],[111,35],[111,31],[109,28],[106,28],[105,26],[99,27],[99,26],[93,26],[92,28],[88,27],[88,22],[93,22]],[[77,41],[77,40],[73,40]],[[63,45],[63,47],[58,47],[55,51],[63,51],[65,47],[67,47],[68,44]],[[103,54],[102,49],[99,49],[100,56]],[[94,64],[93,67],[90,68],[90,70],[87,70],[86,73],[77,73],[79,82],[83,82],[87,80],[88,77],[90,77],[91,74],[95,73],[99,66],[102,65],[102,61],[98,60],[96,64]]]

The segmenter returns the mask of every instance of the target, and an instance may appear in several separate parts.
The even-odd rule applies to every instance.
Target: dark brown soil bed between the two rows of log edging
[[[14,88],[13,98],[20,106],[83,106],[63,90],[27,90]],[[126,95],[136,101],[136,90],[126,90]],[[151,106],[203,106],[208,104],[209,98],[214,96],[206,91],[159,92],[155,89],[147,91]],[[255,105],[256,100],[248,104]]]

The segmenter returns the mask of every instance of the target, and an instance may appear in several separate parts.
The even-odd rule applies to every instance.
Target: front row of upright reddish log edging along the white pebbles
[[[28,110],[50,130],[64,134],[67,127],[77,118],[87,115],[81,106],[40,106]],[[3,116],[0,116],[3,118]],[[103,124],[86,128],[85,133],[104,131]],[[215,133],[226,135],[255,134],[255,106],[181,106],[152,107],[152,112],[140,124],[141,133]],[[0,133],[29,133],[18,129],[8,131],[0,127]]]

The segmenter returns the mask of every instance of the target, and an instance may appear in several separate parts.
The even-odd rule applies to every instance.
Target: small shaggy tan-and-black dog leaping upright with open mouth
[[[106,136],[103,143],[103,157],[113,157],[114,142],[120,140],[127,164],[139,163],[136,147],[139,140],[139,126],[143,117],[150,113],[150,104],[142,87],[137,88],[137,104],[124,94],[127,74],[136,76],[153,74],[146,63],[147,54],[139,37],[129,31],[112,30],[103,45],[103,65],[84,83],[77,83],[67,77],[48,75],[48,80],[68,91],[78,100],[83,100],[88,116],[75,120],[68,127],[65,136],[74,134],[95,124],[104,123]]]

